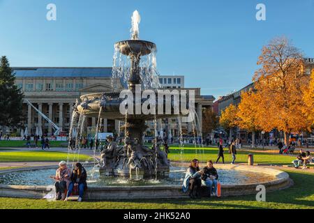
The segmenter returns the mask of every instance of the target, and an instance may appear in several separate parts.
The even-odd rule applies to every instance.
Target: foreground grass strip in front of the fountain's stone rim
[[[314,208],[314,174],[305,172],[288,171],[294,185],[288,189],[267,193],[267,202],[255,201],[255,195],[227,198],[191,199],[160,199],[160,200],[135,200],[135,201],[97,201],[97,202],[64,202],[45,201],[34,199],[0,198],[0,208]]]

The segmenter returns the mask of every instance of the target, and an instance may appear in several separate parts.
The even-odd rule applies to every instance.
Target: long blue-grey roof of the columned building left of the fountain
[[[13,68],[16,77],[112,77],[112,68]]]

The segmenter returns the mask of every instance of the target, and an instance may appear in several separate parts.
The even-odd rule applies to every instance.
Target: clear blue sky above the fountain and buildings
[[[46,20],[48,3],[57,21]],[[257,3],[266,5],[266,21],[255,19]],[[314,0],[0,0],[0,55],[11,66],[112,66],[133,10],[140,38],[158,47],[159,72],[185,75],[186,87],[204,95],[249,84],[271,38],[287,36],[314,57]]]

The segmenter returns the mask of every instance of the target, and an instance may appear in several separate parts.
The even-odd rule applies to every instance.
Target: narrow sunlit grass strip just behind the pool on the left
[[[70,154],[69,159],[77,159],[77,155]],[[68,153],[52,151],[17,151],[17,152],[0,152],[0,162],[40,162],[40,161],[60,161],[66,160]],[[79,156],[80,161],[91,160],[88,155]]]

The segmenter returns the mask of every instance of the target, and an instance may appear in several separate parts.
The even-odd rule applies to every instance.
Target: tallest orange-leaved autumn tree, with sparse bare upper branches
[[[275,38],[264,46],[253,81],[257,92],[257,125],[264,131],[285,133],[288,144],[290,132],[308,128],[304,107],[304,86],[308,77],[304,72],[304,57],[286,38]]]

